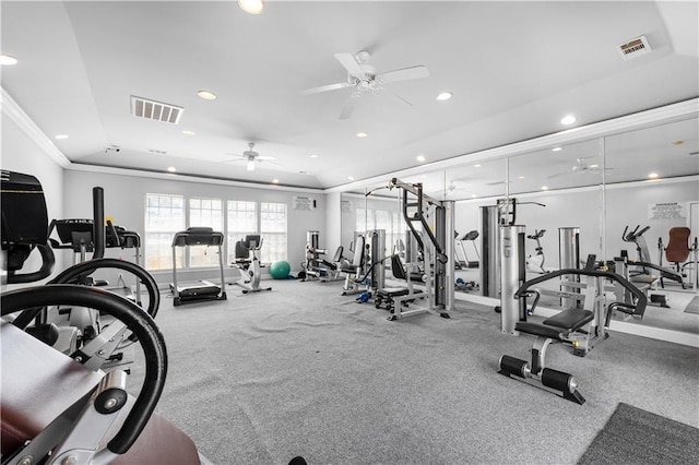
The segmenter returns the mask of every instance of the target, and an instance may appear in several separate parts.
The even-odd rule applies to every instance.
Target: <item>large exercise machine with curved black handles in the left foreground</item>
[[[44,279],[50,275],[55,261],[42,186],[33,176],[3,170],[1,188],[7,282]],[[40,269],[20,273],[34,250],[40,252]],[[66,272],[90,274],[84,266],[94,267],[105,263],[103,260],[109,259],[92,260]],[[74,277],[66,272],[63,279]],[[191,439],[154,414],[165,384],[167,354],[163,335],[150,314],[121,296],[76,284],[24,287],[3,293],[1,299],[3,465],[208,463]],[[144,381],[138,396],[127,392],[123,370],[105,374],[97,369],[102,363],[90,367],[91,358],[68,357],[51,348],[50,339],[58,337],[55,325],[47,325],[44,334],[22,331],[22,321],[31,322],[36,311],[58,305],[95,309],[119,323],[110,327],[128,327],[132,332],[145,355]],[[9,322],[17,312],[21,313]],[[95,353],[97,357],[103,354]]]

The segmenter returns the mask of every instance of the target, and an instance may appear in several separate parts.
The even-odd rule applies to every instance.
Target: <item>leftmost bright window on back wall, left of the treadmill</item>
[[[145,194],[144,265],[146,270],[173,267],[173,237],[185,229],[185,198]],[[179,263],[181,264],[181,263]]]

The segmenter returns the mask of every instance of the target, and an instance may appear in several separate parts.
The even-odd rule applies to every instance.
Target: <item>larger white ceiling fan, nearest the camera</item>
[[[376,69],[372,64],[369,64],[369,58],[371,55],[362,50],[357,55],[352,53],[334,53],[335,60],[340,62],[347,70],[347,81],[339,82],[335,84],[321,85],[320,87],[312,87],[301,91],[301,95],[319,94],[321,92],[337,91],[341,88],[353,87],[353,92],[345,103],[344,108],[340,112],[340,119],[347,119],[354,111],[355,102],[364,95],[383,90],[382,84],[408,81],[414,79],[422,79],[429,76],[429,70],[424,65],[416,65],[410,68],[403,68],[400,70],[388,71],[381,74],[376,73]],[[395,95],[395,94],[393,94]],[[411,105],[410,102],[395,95],[401,100]],[[412,105],[411,105],[412,106]]]

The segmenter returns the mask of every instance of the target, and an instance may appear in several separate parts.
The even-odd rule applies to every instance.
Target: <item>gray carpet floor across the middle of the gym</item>
[[[497,373],[533,338],[500,333],[490,308],[389,322],[340,283],[271,285],[176,308],[163,296],[157,409],[216,464],[574,464],[620,402],[699,426],[697,348],[620,333],[585,358],[549,347],[580,406]]]

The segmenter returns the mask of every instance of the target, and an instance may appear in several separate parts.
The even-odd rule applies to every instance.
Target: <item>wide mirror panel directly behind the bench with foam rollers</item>
[[[604,172],[601,139],[509,158],[516,224],[524,226],[528,281],[560,269],[583,267],[590,255],[602,260]],[[542,283],[538,307],[559,310],[582,303],[585,278],[580,279],[579,275],[564,275]]]

